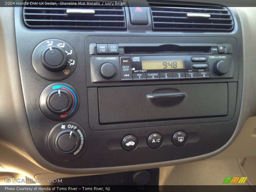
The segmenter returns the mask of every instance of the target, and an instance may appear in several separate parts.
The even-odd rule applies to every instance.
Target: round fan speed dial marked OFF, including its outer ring
[[[79,124],[62,122],[52,128],[47,144],[52,155],[62,160],[72,160],[83,153],[86,140],[84,129]]]

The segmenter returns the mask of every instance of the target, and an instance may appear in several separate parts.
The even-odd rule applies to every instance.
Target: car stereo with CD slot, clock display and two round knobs
[[[131,44],[91,44],[90,49],[91,54],[111,54],[91,57],[92,83],[233,78],[231,44],[144,44],[144,54]]]

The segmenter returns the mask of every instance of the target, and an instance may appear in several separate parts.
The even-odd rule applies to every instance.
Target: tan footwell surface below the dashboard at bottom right
[[[165,185],[225,185],[226,177],[243,176],[237,159],[205,160],[176,166]]]

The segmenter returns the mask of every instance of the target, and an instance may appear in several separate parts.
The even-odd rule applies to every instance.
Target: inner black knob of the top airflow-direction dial
[[[50,71],[60,71],[67,64],[67,55],[57,46],[47,47],[41,57],[44,67]]]

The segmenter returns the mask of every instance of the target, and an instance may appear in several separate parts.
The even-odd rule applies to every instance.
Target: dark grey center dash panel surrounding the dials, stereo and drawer
[[[29,29],[23,22],[22,7],[15,8],[18,58],[29,127],[37,150],[52,164],[69,168],[97,168],[184,159],[222,148],[235,132],[243,79],[242,34],[236,14],[230,10],[234,18],[232,32],[156,32],[152,31],[148,8],[149,22],[143,26],[132,25],[128,7],[124,9],[126,31],[93,31]],[[34,50],[42,42],[44,47],[34,60]],[[60,52],[64,51],[65,55],[72,50],[66,58],[69,63],[65,61],[60,72],[49,71],[53,78],[56,77],[54,81],[49,80],[40,74],[41,69],[44,72],[48,69],[42,68],[43,64],[41,69],[35,66],[43,63],[40,54],[44,52],[42,55],[47,55],[50,49],[48,44],[54,44],[50,45],[51,49],[59,50],[63,43],[71,48]],[[97,45],[100,44],[118,45],[119,53],[99,54]],[[220,44],[225,47],[225,52],[214,52]],[[71,55],[73,58],[70,58]],[[170,60],[173,57],[171,60],[175,62],[177,58],[189,59],[184,59],[184,68],[168,71],[172,73],[170,79],[159,77],[150,80],[147,79],[148,74],[160,76],[161,70],[146,73],[138,69],[138,72],[132,72],[132,76],[145,75],[144,80],[132,78],[122,81],[122,75],[128,75],[122,74],[122,66],[127,66],[120,65],[123,57],[130,60],[134,57],[140,60],[143,57]],[[207,61],[203,63],[207,64],[207,69],[189,68],[202,63],[192,62],[192,57],[206,57]],[[72,65],[73,60],[76,63]],[[229,71],[226,75],[218,75],[214,65],[223,60],[229,63]],[[134,61],[140,62],[138,59]],[[109,74],[111,76],[109,68],[106,74],[100,72],[104,63],[115,66],[114,77],[108,77]],[[135,64],[129,69],[132,70]],[[186,76],[189,72],[196,73],[197,78],[189,78],[191,74]],[[209,74],[209,77],[198,78],[200,72]],[[64,77],[55,76],[57,73],[63,73],[60,76]],[[185,78],[174,79],[174,73],[184,73]],[[102,74],[107,78],[102,78]],[[47,102],[62,93],[64,100],[68,97],[73,100],[67,101],[68,107],[65,107],[68,112],[60,108],[62,111],[57,113],[54,110],[60,106],[59,101]],[[158,98],[152,101],[149,99],[152,95]],[[55,109],[49,106],[55,106]],[[52,113],[58,115],[53,117]],[[73,133],[70,134],[71,131]],[[177,132],[183,137],[182,146],[175,142]],[[157,148],[148,144],[152,134],[155,134],[156,140],[161,140]],[[70,147],[67,142],[70,139],[68,135],[72,135],[75,147]],[[130,136],[129,142],[124,140],[126,136]]]

